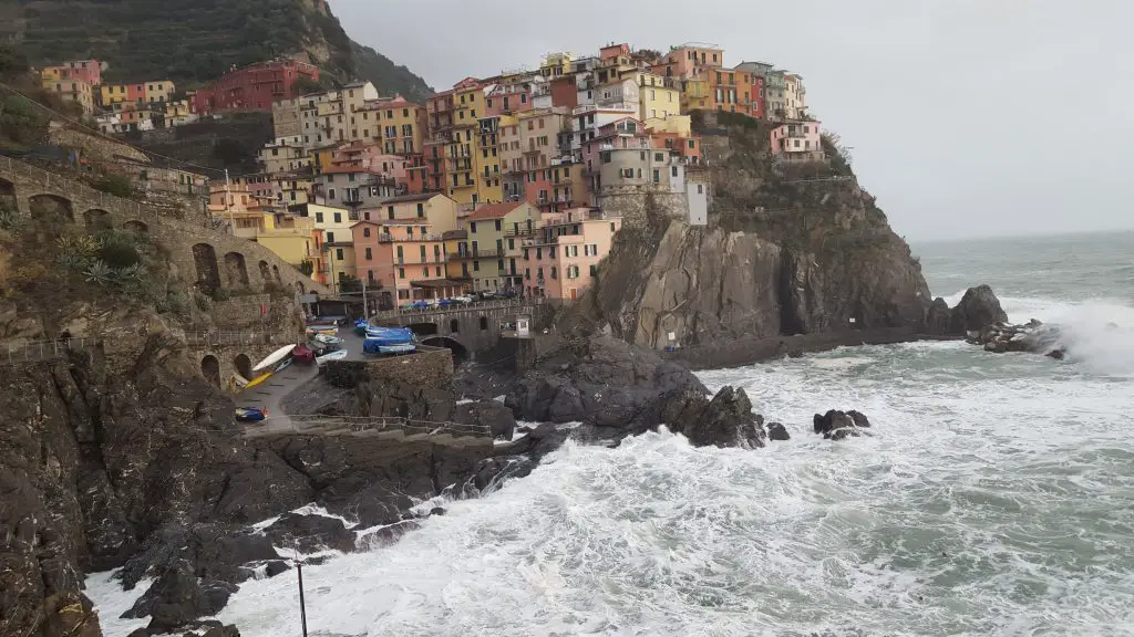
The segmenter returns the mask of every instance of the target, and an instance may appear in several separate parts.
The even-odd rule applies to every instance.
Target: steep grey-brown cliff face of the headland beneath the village
[[[653,348],[922,326],[921,266],[845,167],[773,170],[762,126],[709,136],[709,226],[648,202],[600,267],[590,320]]]

